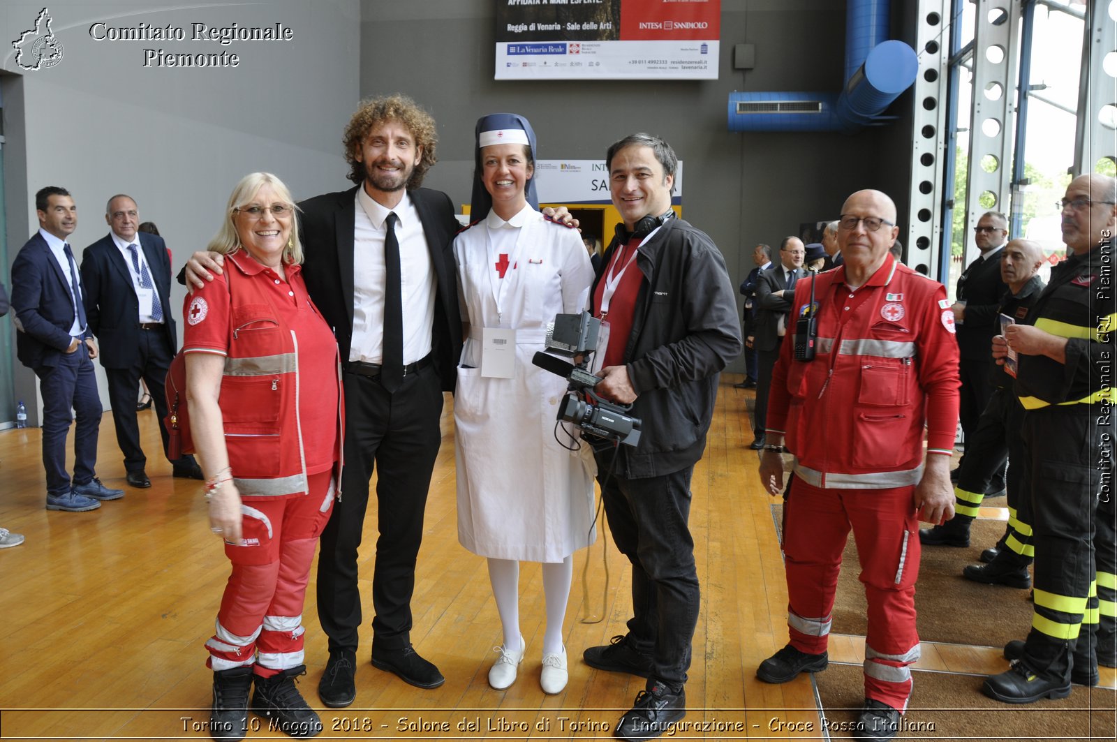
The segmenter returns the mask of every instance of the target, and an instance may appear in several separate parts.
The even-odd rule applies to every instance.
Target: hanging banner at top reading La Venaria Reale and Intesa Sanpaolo
[[[496,79],[717,79],[722,0],[496,3]]]

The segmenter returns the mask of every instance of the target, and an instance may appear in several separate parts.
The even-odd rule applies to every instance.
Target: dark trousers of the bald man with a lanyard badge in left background
[[[163,455],[166,455],[170,435],[163,425],[166,417],[166,370],[171,368],[173,352],[166,345],[163,330],[141,330],[140,345],[135,362],[124,369],[105,369],[108,380],[108,403],[113,406],[113,426],[116,428],[116,444],[124,454],[124,468],[140,472],[147,464],[147,457],[140,447],[140,425],[136,421],[136,393],[140,379],[147,383],[152,407],[159,416],[159,435],[163,438]],[[192,457],[184,457],[192,458]]]

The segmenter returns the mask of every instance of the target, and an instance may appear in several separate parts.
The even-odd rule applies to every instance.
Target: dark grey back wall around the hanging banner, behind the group
[[[910,42],[901,4],[892,37]],[[512,111],[531,120],[543,159],[603,158],[633,131],[666,137],[686,162],[684,216],[722,248],[735,284],[757,241],[775,246],[800,222],[836,218],[855,190],[885,190],[906,211],[909,95],[892,106],[895,125],[855,135],[728,132],[733,91],[840,89],[844,3],[722,0],[719,78],[695,82],[496,82],[493,0],[362,0],[361,9],[361,93],[400,91],[430,111],[440,163],[424,184],[456,203],[469,199],[476,120]],[[732,68],[734,44],[755,45],[755,69]]]

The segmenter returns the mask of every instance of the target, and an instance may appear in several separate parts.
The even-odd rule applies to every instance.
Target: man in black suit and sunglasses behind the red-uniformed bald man
[[[993,335],[1000,333],[997,306],[1009,291],[1001,280],[1001,249],[1009,237],[1009,222],[999,211],[986,211],[974,227],[974,242],[981,255],[958,276],[951,307],[954,312],[955,336],[958,341],[958,371],[962,396],[958,400],[958,422],[966,439],[977,428],[977,419],[993,396],[990,352]],[[955,469],[956,472],[957,469]],[[956,476],[956,475],[955,475]],[[1004,489],[1004,467],[991,481],[987,495]],[[928,542],[924,542],[928,543]]]

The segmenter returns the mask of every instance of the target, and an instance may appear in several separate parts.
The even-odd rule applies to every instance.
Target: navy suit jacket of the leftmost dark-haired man
[[[11,308],[20,363],[31,369],[58,365],[58,356],[69,348],[76,312],[69,282],[38,231],[11,264]],[[88,331],[83,335],[92,336]]]

